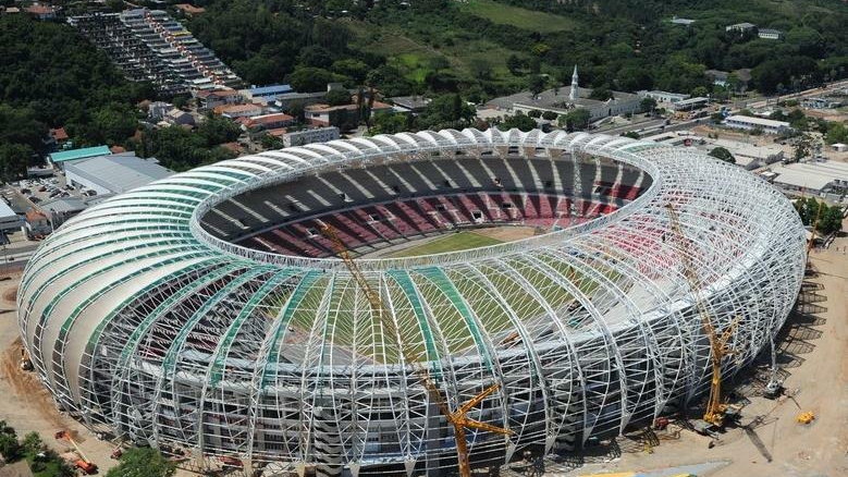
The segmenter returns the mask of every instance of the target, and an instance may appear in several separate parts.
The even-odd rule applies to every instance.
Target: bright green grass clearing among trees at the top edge
[[[466,0],[457,5],[463,11],[492,23],[513,25],[532,32],[551,33],[574,27],[574,21],[568,17],[512,7],[493,0]]]

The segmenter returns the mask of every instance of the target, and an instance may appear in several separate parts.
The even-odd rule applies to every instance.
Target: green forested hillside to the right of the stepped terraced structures
[[[210,0],[191,27],[253,83],[287,78],[316,89],[334,80],[390,95],[462,90],[472,100],[525,87],[538,74],[567,81],[574,64],[590,86],[681,93],[708,87],[705,70],[751,69],[752,86],[765,94],[844,77],[848,66],[841,2],[406,3]],[[696,22],[673,25],[675,15]],[[785,38],[725,32],[738,22]]]

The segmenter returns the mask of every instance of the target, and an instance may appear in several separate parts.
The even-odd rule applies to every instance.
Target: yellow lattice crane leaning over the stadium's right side
[[[736,325],[739,322],[737,317],[723,332],[718,332],[715,329],[715,325],[710,316],[710,310],[706,309],[704,301],[701,298],[701,283],[696,272],[695,264],[692,264],[692,254],[689,249],[690,241],[686,237],[683,227],[680,225],[680,217],[677,215],[677,210],[672,204],[667,204],[668,218],[671,219],[672,232],[677,241],[677,254],[680,257],[680,264],[684,268],[684,276],[689,283],[689,289],[692,292],[695,298],[695,306],[698,310],[698,315],[701,318],[701,326],[703,327],[706,339],[710,342],[710,360],[712,365],[712,380],[710,383],[710,399],[706,402],[706,409],[704,411],[703,420],[722,427],[724,425],[725,412],[728,405],[722,401],[722,358],[730,353],[732,350],[727,347],[727,342],[733,337],[733,332],[736,329]]]

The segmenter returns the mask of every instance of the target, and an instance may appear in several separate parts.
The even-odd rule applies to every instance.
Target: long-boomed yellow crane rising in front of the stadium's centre
[[[439,411],[453,426],[454,438],[456,439],[456,457],[458,462],[459,476],[470,477],[471,467],[468,455],[468,442],[466,440],[467,429],[477,429],[487,432],[499,433],[502,436],[512,436],[514,433],[509,429],[481,423],[467,416],[469,411],[480,404],[493,392],[497,391],[501,388],[501,384],[495,383],[486,388],[481,393],[477,394],[470,401],[459,406],[456,411],[451,411],[451,407],[447,404],[447,400],[444,397],[435,381],[430,376],[430,371],[427,367],[421,365],[420,354],[416,353],[409,346],[409,344],[403,340],[403,335],[397,331],[397,327],[395,327],[394,321],[392,320],[392,316],[383,304],[383,301],[380,298],[380,295],[373,288],[371,288],[371,284],[368,283],[368,280],[366,280],[362,271],[359,269],[359,266],[356,264],[356,261],[354,261],[353,257],[351,256],[351,252],[347,249],[347,246],[345,246],[344,242],[342,242],[342,240],[339,237],[335,229],[324,223],[320,227],[320,231],[327,238],[330,240],[330,242],[332,242],[336,255],[342,259],[342,261],[344,261],[345,267],[347,267],[347,270],[354,277],[354,280],[356,280],[357,285],[362,291],[362,293],[365,293],[365,296],[371,306],[371,311],[377,315],[380,323],[384,329],[383,335],[395,337],[398,351],[401,352],[401,356],[403,356],[404,362],[406,362],[406,364],[413,368],[413,371],[418,377],[418,380],[423,386],[423,388],[427,390],[430,399],[435,403],[435,405],[439,407]]]

